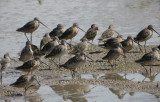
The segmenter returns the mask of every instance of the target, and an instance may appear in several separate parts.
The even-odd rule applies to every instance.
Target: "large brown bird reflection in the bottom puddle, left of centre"
[[[90,85],[52,85],[51,88],[63,99],[71,100],[72,102],[87,102],[84,95],[90,92]]]

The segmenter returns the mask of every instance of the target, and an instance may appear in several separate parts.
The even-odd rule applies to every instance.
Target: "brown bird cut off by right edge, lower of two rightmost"
[[[151,65],[157,62],[160,58],[160,55],[158,53],[158,48],[152,48],[152,51],[149,53],[146,53],[142,56],[142,58],[136,60],[136,63],[141,64],[143,68],[146,70],[148,73],[148,70],[144,67],[145,65],[150,65],[150,74],[151,74]]]

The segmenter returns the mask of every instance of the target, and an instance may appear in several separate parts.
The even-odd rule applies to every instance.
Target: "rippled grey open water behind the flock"
[[[159,0],[1,0],[0,1],[0,56],[9,52],[17,57],[17,53],[25,45],[26,38],[23,33],[16,32],[26,22],[34,17],[45,23],[50,29],[40,25],[33,33],[33,43],[39,42],[46,32],[50,32],[61,23],[69,28],[77,22],[85,31],[95,23],[100,31],[97,38],[110,24],[126,38],[136,34],[149,24],[153,24],[160,32],[160,1]],[[79,31],[73,41],[79,41],[84,32]],[[30,36],[30,35],[28,35]],[[159,44],[160,38],[153,35],[147,44]]]

